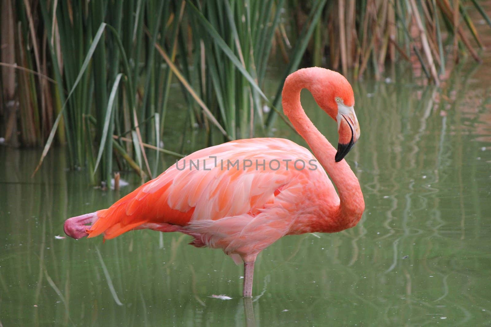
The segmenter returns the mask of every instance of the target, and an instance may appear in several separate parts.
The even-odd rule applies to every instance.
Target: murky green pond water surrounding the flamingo
[[[266,249],[251,302],[241,297],[242,267],[185,235],[56,238],[66,218],[108,207],[137,183],[120,194],[94,189],[85,172],[67,171],[63,150],[30,178],[40,152],[0,148],[0,326],[491,325],[490,84],[474,75],[465,70],[443,91],[354,84],[361,137],[347,160],[363,218]],[[302,101],[336,142],[335,123],[309,94]],[[279,120],[276,128],[304,144]],[[211,297],[221,294],[232,299]]]

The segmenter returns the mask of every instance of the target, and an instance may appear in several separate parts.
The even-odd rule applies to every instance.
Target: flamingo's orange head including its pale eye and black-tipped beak
[[[337,122],[339,140],[334,160],[339,162],[360,137],[360,126],[355,115],[355,96],[350,82],[337,72],[324,71],[312,95],[319,106]]]

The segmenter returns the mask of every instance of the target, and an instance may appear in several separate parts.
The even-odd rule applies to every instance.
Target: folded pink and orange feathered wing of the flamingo
[[[298,159],[308,165],[315,157],[292,141],[276,138],[237,140],[196,151],[97,211],[98,219],[87,232],[89,237],[104,233],[110,239],[148,224],[186,226],[255,215],[274,202],[284,185],[305,175],[307,167],[294,167]]]

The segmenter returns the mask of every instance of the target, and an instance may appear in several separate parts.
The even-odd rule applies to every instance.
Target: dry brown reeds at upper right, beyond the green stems
[[[351,71],[356,79],[367,69],[380,79],[387,62],[408,61],[416,75],[422,71],[438,85],[463,56],[481,61],[476,48],[483,46],[469,13],[491,26],[482,2],[339,0],[326,7],[322,24],[329,28],[312,40],[307,58],[316,64],[319,49],[326,49],[327,65],[345,75]],[[289,10],[301,24],[303,1],[294,1]]]

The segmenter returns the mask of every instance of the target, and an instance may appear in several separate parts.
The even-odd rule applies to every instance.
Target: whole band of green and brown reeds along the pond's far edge
[[[153,177],[162,153],[184,149],[161,144],[175,123],[169,112],[182,111],[170,105],[176,98],[183,126],[205,128],[203,145],[212,145],[273,125],[282,85],[265,93],[271,58],[283,61],[283,77],[315,64],[379,79],[387,62],[408,61],[438,84],[463,53],[480,60],[470,12],[491,26],[484,5],[4,0],[0,132],[13,146],[44,145],[39,164],[54,143],[66,144],[70,167],[86,169],[92,183],[109,184],[115,162]]]

